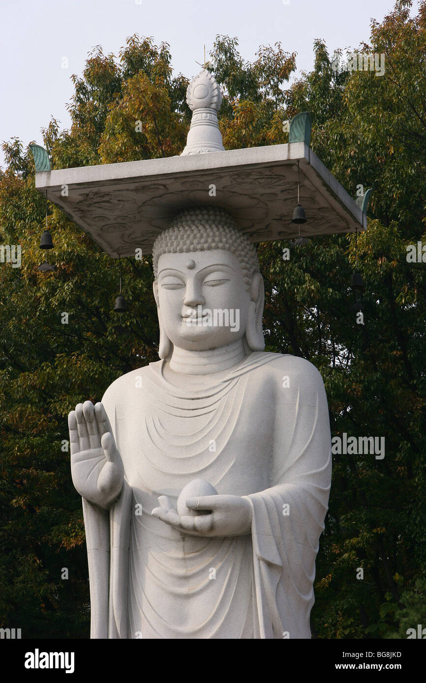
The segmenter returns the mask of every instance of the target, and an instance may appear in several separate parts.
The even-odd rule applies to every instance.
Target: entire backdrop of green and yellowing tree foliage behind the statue
[[[424,264],[405,258],[407,245],[426,242],[426,3],[416,18],[410,5],[399,2],[373,23],[371,45],[362,46],[385,54],[381,77],[335,72],[321,40],[312,72],[287,90],[295,55],[279,43],[259,48],[250,64],[236,38],[217,36],[208,66],[224,92],[226,148],[286,142],[282,121],[310,111],[323,163],[352,196],[359,184],[373,188],[358,256],[355,236],[312,238],[289,261],[288,242],[258,247],[267,350],[317,365],[333,435],[386,443],[383,460],[334,456],[312,610],[319,638],[405,638],[407,628],[426,626],[426,277]],[[133,36],[118,60],[97,46],[72,78],[70,130],[55,119],[43,129],[53,168],[181,153],[188,81],[172,76],[168,44]],[[40,273],[45,204],[31,154],[16,138],[3,150],[0,242],[21,245],[23,264],[0,264],[0,626],[22,628],[23,637],[88,637],[81,500],[62,450],[66,415],[157,359],[152,268],[148,258],[122,261],[131,310],[118,324],[116,264],[49,204],[55,273]],[[366,284],[364,326],[351,310],[356,264]]]

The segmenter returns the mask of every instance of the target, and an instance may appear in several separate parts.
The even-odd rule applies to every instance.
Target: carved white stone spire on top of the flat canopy
[[[222,92],[214,76],[202,69],[187,89],[187,104],[193,111],[187,145],[181,156],[204,152],[224,152],[222,134],[217,124],[217,112],[222,104]]]

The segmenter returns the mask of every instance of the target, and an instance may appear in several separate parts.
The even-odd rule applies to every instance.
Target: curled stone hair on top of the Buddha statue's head
[[[176,214],[171,227],[157,237],[152,248],[155,279],[161,254],[207,249],[226,249],[235,254],[243,271],[245,288],[250,288],[253,274],[260,270],[256,249],[221,208],[191,208]]]

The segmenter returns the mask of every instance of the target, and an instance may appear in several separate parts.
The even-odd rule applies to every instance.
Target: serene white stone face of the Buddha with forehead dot
[[[230,251],[162,254],[154,294],[163,331],[177,348],[204,351],[245,335],[251,296]]]

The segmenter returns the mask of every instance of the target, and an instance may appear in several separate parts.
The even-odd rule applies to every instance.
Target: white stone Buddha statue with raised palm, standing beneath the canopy
[[[308,639],[328,507],[314,365],[265,352],[256,250],[190,208],[154,245],[159,358],[68,418],[91,637]]]

